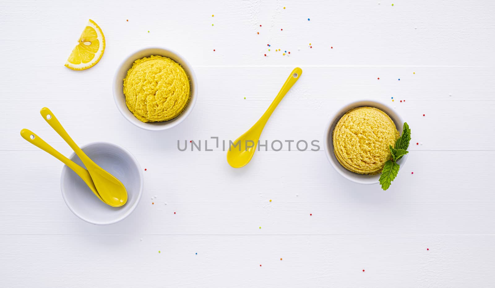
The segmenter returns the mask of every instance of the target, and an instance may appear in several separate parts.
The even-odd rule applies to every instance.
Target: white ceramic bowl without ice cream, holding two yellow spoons
[[[84,181],[64,165],[60,190],[67,207],[82,220],[98,225],[116,223],[129,216],[138,206],[144,187],[143,171],[136,158],[126,149],[110,143],[96,142],[81,148],[101,168],[124,184],[127,203],[121,207],[111,207],[101,202]],[[69,158],[85,167],[75,153]]]

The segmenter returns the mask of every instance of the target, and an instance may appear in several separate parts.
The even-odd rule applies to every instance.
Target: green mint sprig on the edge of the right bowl
[[[397,173],[399,172],[399,164],[397,161],[402,158],[405,154],[409,153],[407,147],[409,147],[409,142],[411,141],[411,129],[409,125],[404,122],[402,127],[402,135],[397,139],[395,148],[389,145],[390,152],[392,153],[392,160],[385,162],[385,166],[382,170],[382,175],[380,175],[380,184],[383,190],[389,189],[392,181],[396,179]]]

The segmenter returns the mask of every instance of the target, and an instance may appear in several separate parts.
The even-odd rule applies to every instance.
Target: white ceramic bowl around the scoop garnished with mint
[[[323,135],[323,145],[325,149],[325,154],[327,154],[328,161],[332,164],[332,166],[335,168],[335,170],[345,178],[349,179],[352,182],[360,183],[360,184],[376,184],[378,183],[380,179],[380,173],[376,175],[364,175],[364,174],[358,174],[354,172],[350,172],[344,166],[342,166],[341,163],[339,163],[339,160],[337,160],[337,157],[335,157],[334,154],[334,143],[332,139],[332,133],[334,131],[334,127],[339,122],[340,118],[346,114],[347,111],[349,111],[352,108],[357,108],[357,107],[363,107],[363,106],[369,106],[369,107],[375,107],[378,108],[385,113],[387,113],[390,118],[394,121],[396,124],[397,130],[399,131],[400,135],[402,135],[402,124],[404,124],[404,121],[400,116],[392,109],[391,107],[377,102],[373,100],[360,100],[356,102],[352,102],[338,111],[335,112],[335,114],[330,118],[330,121],[328,122],[327,126],[325,127],[325,133]],[[405,160],[407,159],[407,154],[405,154],[400,160],[397,162],[400,167],[404,165]]]

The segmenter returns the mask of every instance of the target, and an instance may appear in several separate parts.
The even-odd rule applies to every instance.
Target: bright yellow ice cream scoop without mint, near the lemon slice
[[[124,79],[127,108],[142,122],[179,116],[191,97],[186,71],[174,60],[153,56],[134,62]]]

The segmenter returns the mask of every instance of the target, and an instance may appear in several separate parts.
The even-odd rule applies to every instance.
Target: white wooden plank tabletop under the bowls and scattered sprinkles
[[[0,287],[494,287],[495,2],[391,3],[3,0]],[[71,71],[88,18],[106,50]],[[180,52],[199,81],[193,113],[158,133],[111,92],[123,57],[149,46]],[[177,149],[237,138],[296,66],[262,140],[322,144],[343,105],[388,103],[412,129],[388,191],[342,178],[323,149],[269,148],[242,169],[221,149]],[[147,169],[127,219],[96,226],[66,207],[62,164],[19,136],[71,153],[44,106],[78,144],[120,144]]]

